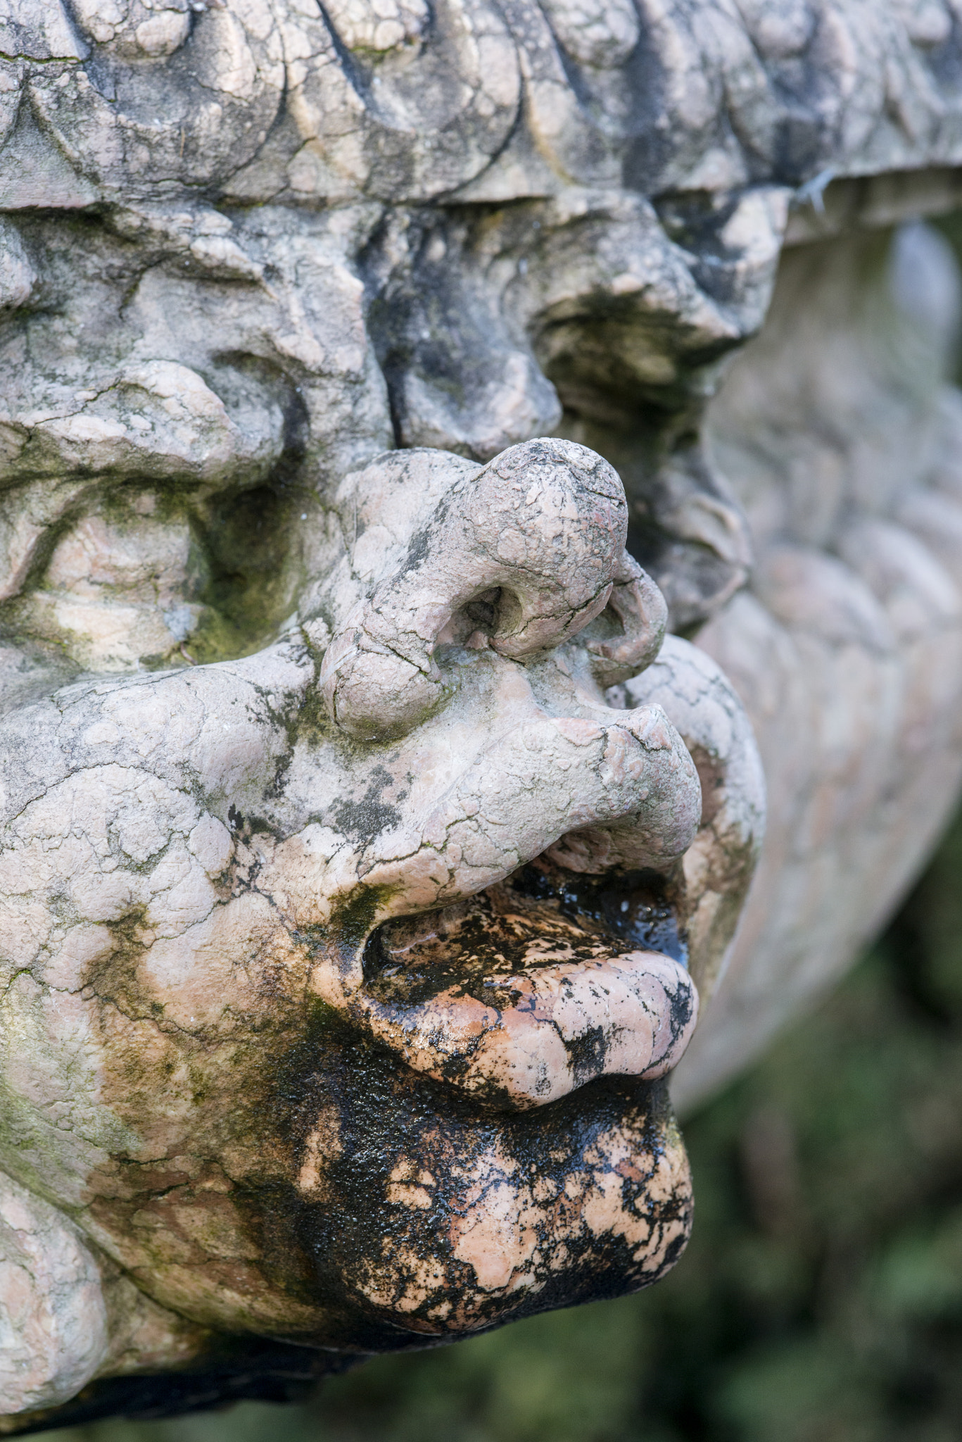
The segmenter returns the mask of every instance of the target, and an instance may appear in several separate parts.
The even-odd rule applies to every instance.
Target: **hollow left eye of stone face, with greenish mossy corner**
[[[296,609],[296,487],[202,496],[124,482],[50,528],[0,633],[52,646],[85,671],[143,671],[250,655]]]

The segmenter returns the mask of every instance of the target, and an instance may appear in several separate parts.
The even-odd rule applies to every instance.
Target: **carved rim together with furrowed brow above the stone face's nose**
[[[391,446],[486,461],[564,408],[672,623],[704,620],[750,562],[698,441],[720,362],[762,323],[792,187],[956,162],[953,14],[17,0],[0,427],[32,493],[4,594],[131,476],[323,493]]]

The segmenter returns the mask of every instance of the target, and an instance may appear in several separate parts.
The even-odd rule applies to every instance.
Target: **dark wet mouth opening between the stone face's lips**
[[[363,952],[365,989],[384,1004],[450,989],[511,1007],[519,973],[635,950],[688,965],[671,881],[656,871],[578,875],[538,858],[464,901],[379,926]]]

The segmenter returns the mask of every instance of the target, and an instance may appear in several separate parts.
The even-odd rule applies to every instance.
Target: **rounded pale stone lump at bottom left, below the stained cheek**
[[[69,1402],[107,1350],[101,1273],[81,1233],[0,1172],[0,1416]]]

